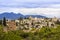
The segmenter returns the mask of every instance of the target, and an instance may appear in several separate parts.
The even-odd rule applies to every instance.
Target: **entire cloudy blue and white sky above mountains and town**
[[[60,0],[0,0],[2,12],[60,17]]]

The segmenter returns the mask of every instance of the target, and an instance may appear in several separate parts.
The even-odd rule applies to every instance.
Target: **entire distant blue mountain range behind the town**
[[[0,14],[0,19],[2,19],[3,17],[6,17],[6,19],[18,19],[20,17],[23,17],[23,18],[28,18],[29,16],[32,16],[32,17],[37,17],[37,18],[46,18],[45,16],[42,16],[42,15],[23,15],[21,13],[13,13],[13,12],[4,12],[4,13],[1,13]]]

